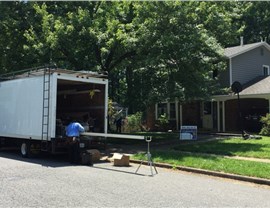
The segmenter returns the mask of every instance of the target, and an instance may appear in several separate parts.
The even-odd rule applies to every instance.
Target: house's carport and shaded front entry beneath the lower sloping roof
[[[257,78],[255,83],[249,83],[243,88],[239,95],[244,129],[257,132],[261,128],[260,117],[269,113],[270,109],[270,77]],[[217,131],[241,130],[237,95],[230,93],[228,95],[213,96],[212,101],[217,106],[217,118],[214,119]]]

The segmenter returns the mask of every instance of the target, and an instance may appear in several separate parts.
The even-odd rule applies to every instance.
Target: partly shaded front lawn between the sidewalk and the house
[[[248,140],[232,138],[203,143],[180,144],[174,147],[174,150],[270,159],[270,137]]]

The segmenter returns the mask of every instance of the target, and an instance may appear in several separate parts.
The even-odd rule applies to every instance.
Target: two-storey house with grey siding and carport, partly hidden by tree
[[[226,48],[227,69],[215,72],[223,87],[231,87],[238,81],[243,86],[240,93],[240,109],[243,127],[257,132],[261,128],[260,116],[269,112],[270,106],[270,46],[266,42],[243,44]],[[193,102],[180,105],[178,102],[160,103],[155,106],[155,119],[166,113],[171,128],[181,125],[197,125],[198,128],[218,132],[239,131],[237,95],[216,95],[211,102]]]

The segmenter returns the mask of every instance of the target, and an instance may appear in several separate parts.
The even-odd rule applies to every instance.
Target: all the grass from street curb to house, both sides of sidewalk
[[[205,142],[181,142],[171,150],[153,151],[151,154],[155,162],[168,163],[172,166],[270,179],[270,163],[224,157],[226,155],[270,159],[270,137],[263,137],[260,140],[231,138]],[[137,154],[134,158],[146,159],[143,154]]]

